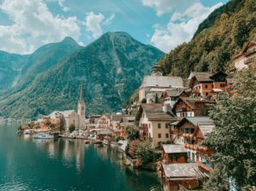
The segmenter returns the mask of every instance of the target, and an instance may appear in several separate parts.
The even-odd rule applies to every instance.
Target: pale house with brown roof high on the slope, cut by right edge
[[[241,50],[238,55],[235,55],[232,60],[236,67],[236,70],[240,71],[243,68],[247,68],[253,63],[256,55],[256,42],[250,41],[247,43],[246,47]]]

